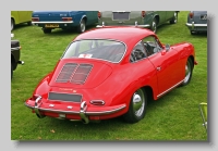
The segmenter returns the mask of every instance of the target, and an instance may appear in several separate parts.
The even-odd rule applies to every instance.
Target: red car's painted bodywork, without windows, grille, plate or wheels
[[[196,61],[194,47],[189,42],[182,42],[171,46],[170,51],[160,43],[162,51],[142,61],[130,63],[134,46],[149,35],[158,39],[152,30],[136,27],[97,28],[78,35],[73,41],[83,39],[122,41],[126,45],[123,59],[119,63],[96,59],[61,59],[55,70],[38,84],[25,105],[41,116],[76,121],[82,119],[85,114],[88,119],[97,121],[125,114],[131,98],[138,88],[152,88],[153,99],[157,100],[184,80],[187,58],[192,56],[194,62]],[[92,65],[84,84],[57,83],[61,70],[68,63]],[[78,102],[50,100],[49,92],[78,95],[82,99]],[[41,99],[36,101],[36,96],[40,96]],[[85,111],[82,110],[83,101],[86,102]],[[96,101],[96,104],[90,101]]]

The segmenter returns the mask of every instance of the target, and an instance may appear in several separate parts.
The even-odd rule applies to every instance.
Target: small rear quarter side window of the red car
[[[145,47],[143,46],[143,42],[140,41],[135,47],[133,48],[130,56],[130,62],[135,62],[138,60],[142,60],[147,56],[147,53],[145,51]]]

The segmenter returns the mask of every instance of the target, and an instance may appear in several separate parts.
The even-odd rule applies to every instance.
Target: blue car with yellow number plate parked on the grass
[[[77,29],[83,33],[86,26],[98,22],[97,11],[34,11],[33,24],[41,27],[45,34],[55,28]]]

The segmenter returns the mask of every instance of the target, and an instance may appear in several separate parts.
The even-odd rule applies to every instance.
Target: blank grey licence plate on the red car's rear
[[[49,92],[48,99],[49,99],[49,100],[60,100],[60,101],[81,102],[82,96],[81,96],[81,95],[74,95],[74,93],[57,93],[57,92]]]

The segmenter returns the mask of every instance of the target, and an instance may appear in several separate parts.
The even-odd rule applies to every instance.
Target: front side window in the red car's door
[[[145,46],[145,49],[147,51],[147,55],[152,55],[154,53],[159,52],[162,48],[158,43],[157,39],[153,36],[148,36],[143,39],[143,43]]]

